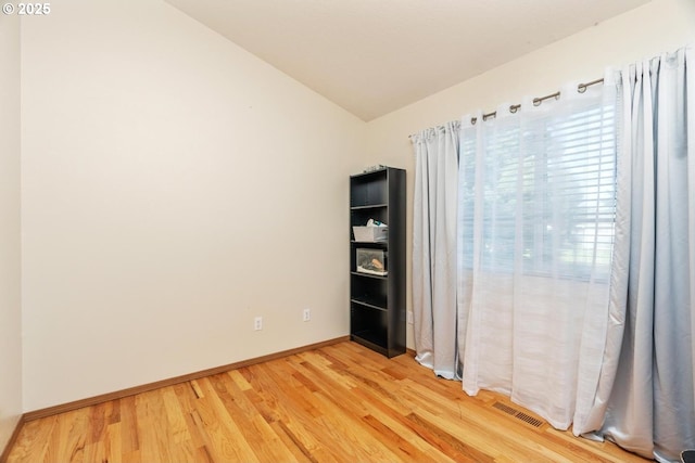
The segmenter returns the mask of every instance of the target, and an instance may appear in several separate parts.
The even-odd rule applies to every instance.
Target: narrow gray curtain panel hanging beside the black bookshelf
[[[413,314],[416,360],[459,377],[456,337],[458,123],[413,136]]]

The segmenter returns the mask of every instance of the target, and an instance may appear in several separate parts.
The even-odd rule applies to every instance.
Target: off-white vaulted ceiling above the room
[[[364,120],[649,0],[166,0]]]

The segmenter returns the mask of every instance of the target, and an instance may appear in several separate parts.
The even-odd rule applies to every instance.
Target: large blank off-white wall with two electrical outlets
[[[346,335],[366,125],[161,0],[59,3],[22,27],[24,410]]]

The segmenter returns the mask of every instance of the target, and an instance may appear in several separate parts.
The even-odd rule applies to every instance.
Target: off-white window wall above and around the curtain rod
[[[414,156],[408,134],[455,120],[477,110],[494,111],[500,104],[518,103],[522,97],[553,93],[572,81],[603,77],[607,66],[632,62],[695,46],[695,1],[652,2],[585,29],[478,77],[369,123],[368,146],[374,159],[405,166],[408,180],[408,241],[413,227]],[[452,57],[455,59],[455,57]],[[408,259],[412,249],[408,248]],[[408,310],[412,310],[412,273],[408,268]],[[413,326],[407,345],[415,348]]]

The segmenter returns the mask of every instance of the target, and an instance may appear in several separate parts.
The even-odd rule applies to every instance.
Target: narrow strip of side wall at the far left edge
[[[0,15],[0,453],[22,414],[20,18]]]

